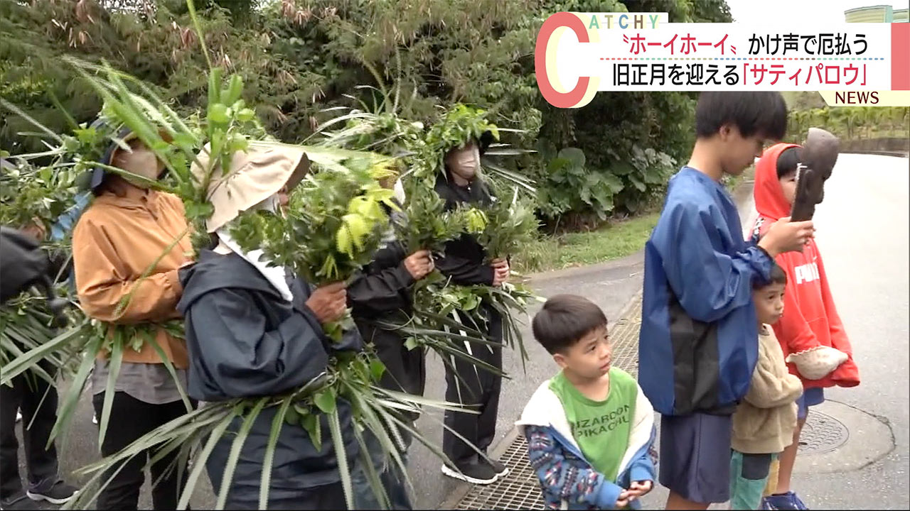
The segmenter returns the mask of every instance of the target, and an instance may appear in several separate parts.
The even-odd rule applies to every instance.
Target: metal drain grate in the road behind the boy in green
[[[642,326],[642,298],[636,298],[629,316],[616,321],[610,331],[613,366],[638,377],[638,333]],[[487,486],[471,486],[456,509],[544,509],[541,486],[528,461],[528,442],[516,436],[500,461],[509,474]]]

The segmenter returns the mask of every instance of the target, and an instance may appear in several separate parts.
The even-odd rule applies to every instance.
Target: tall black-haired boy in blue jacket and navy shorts
[[[705,509],[730,497],[731,415],[758,356],[753,278],[774,255],[800,249],[812,222],[784,218],[758,244],[743,240],[720,184],[761,155],[787,125],[774,92],[704,92],[689,164],[670,180],[644,249],[639,383],[662,414],[661,484],[668,509]]]

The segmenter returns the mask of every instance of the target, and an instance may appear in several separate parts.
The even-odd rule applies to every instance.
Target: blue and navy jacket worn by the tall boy
[[[644,248],[639,385],[664,415],[732,414],[758,358],[752,281],[773,260],[743,240],[733,199],[682,167]]]

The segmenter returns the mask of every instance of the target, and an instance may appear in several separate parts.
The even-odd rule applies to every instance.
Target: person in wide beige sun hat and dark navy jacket
[[[199,183],[206,183],[209,159],[203,150],[192,166]],[[345,314],[343,282],[311,289],[307,281],[272,264],[263,250],[244,250],[231,235],[231,222],[238,216],[279,214],[288,202],[288,191],[308,172],[308,164],[300,147],[251,148],[232,156],[227,176],[217,171],[211,176],[207,201],[213,212],[206,228],[214,248],[201,250],[197,262],[182,270],[180,278],[184,295],[178,307],[186,317],[188,394],[193,398],[212,403],[316,388],[327,376],[333,352],[362,346],[356,330],[334,342],[324,328]],[[269,509],[347,508],[339,470],[353,465],[359,446],[349,403],[339,398],[336,405],[346,458],[336,457],[331,442],[314,442],[305,427],[284,425],[268,479]],[[238,416],[227,426],[233,433],[243,423],[248,435],[229,478],[227,508],[259,508],[277,413],[278,406],[263,407],[251,423]],[[328,414],[312,408],[308,417],[316,431],[329,431]],[[233,436],[218,438],[207,458],[217,493],[224,491],[219,486],[230,465]]]

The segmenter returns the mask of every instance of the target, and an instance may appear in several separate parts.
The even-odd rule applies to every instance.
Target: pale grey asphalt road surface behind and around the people
[[[910,507],[910,489],[906,485],[910,466],[908,162],[892,156],[841,155],[833,177],[825,185],[824,204],[816,211],[818,245],[863,377],[862,385],[835,388],[826,396],[878,416],[892,428],[896,446],[887,456],[860,470],[824,475],[797,473],[794,488],[814,508]],[[588,296],[613,321],[640,289],[641,271],[641,255],[635,255],[612,264],[544,274],[532,284],[542,296],[562,292]],[[551,357],[533,342],[530,333],[526,339],[531,356],[526,371],[516,354],[507,351],[504,356],[512,379],[502,387],[497,440],[509,432],[534,389],[554,372]],[[438,357],[430,356],[428,369],[427,396],[441,398],[444,378]],[[97,430],[91,423],[87,393],[78,414],[76,424],[67,432],[66,449],[60,453],[61,473],[74,483],[80,478],[70,472],[97,459]],[[440,418],[440,414],[430,413],[419,422],[420,430],[438,445]],[[22,471],[25,474],[24,467]],[[439,459],[422,446],[411,450],[410,475],[416,491],[415,504],[422,508],[439,506],[456,486],[440,474]],[[643,503],[648,507],[662,506],[663,495],[658,488]],[[214,497],[204,491],[192,502],[196,508],[211,508],[214,504]],[[148,492],[144,491],[140,508],[150,506]]]

